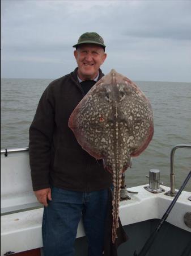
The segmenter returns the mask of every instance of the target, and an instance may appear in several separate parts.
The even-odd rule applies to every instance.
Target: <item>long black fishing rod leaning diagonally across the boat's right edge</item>
[[[147,254],[147,251],[150,249],[152,243],[154,243],[156,236],[158,235],[158,232],[160,230],[160,228],[162,227],[164,221],[167,219],[168,214],[171,212],[173,206],[175,205],[177,199],[179,198],[182,190],[184,189],[185,185],[188,183],[188,180],[191,177],[191,171],[189,172],[188,176],[186,177],[184,183],[181,185],[181,188],[179,189],[179,191],[177,192],[175,198],[172,200],[171,204],[169,205],[168,209],[166,210],[166,212],[164,213],[162,219],[159,221],[158,225],[155,228],[155,231],[151,234],[151,236],[148,238],[148,240],[146,241],[145,245],[143,246],[142,250],[140,251],[140,253],[137,253],[137,251],[134,252],[134,256],[145,256]]]

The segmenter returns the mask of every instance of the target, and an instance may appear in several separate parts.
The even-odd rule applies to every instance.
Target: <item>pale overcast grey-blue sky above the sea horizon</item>
[[[57,79],[77,67],[84,32],[107,46],[101,65],[131,80],[191,82],[191,1],[1,0],[1,77]]]

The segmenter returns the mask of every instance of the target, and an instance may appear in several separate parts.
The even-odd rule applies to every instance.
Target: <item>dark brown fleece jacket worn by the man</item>
[[[68,127],[70,114],[84,97],[76,68],[54,80],[40,98],[29,128],[29,161],[33,190],[55,187],[72,191],[109,188],[112,175],[78,144]],[[99,79],[103,77],[99,69]]]

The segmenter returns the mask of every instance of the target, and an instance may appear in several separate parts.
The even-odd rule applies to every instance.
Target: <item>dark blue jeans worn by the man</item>
[[[74,255],[80,218],[88,240],[88,256],[102,256],[107,201],[108,189],[86,193],[53,187],[52,201],[43,215],[45,256]]]

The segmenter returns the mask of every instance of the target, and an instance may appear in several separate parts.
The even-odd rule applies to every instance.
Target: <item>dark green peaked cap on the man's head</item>
[[[78,43],[75,44],[73,47],[78,47],[80,44],[98,44],[105,49],[104,39],[101,38],[96,32],[86,32],[82,34],[79,39]]]

